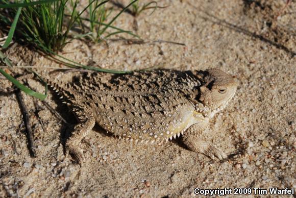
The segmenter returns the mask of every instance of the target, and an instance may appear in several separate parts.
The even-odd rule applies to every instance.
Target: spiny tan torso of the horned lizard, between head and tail
[[[194,105],[200,82],[191,72],[154,70],[126,75],[81,76],[64,93],[80,119],[90,110],[107,132],[135,141],[163,141],[195,123]]]

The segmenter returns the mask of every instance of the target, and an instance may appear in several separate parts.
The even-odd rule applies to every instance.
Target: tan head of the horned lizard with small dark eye
[[[202,82],[195,109],[208,116],[223,109],[236,92],[234,78],[220,69],[196,71],[195,76]]]

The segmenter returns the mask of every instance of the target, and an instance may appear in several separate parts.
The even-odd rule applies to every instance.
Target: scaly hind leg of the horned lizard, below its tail
[[[69,154],[77,160],[80,166],[84,164],[84,157],[82,150],[79,147],[81,140],[87,136],[89,131],[94,127],[95,119],[92,114],[90,114],[86,119],[81,121],[72,132],[69,139],[66,141],[66,150]]]

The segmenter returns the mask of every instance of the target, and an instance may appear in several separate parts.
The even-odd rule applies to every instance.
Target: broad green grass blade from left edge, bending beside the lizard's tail
[[[15,78],[10,76],[8,73],[6,73],[3,69],[0,68],[0,73],[2,73],[3,76],[5,76],[9,81],[11,81],[17,88],[22,90],[23,92],[32,95],[34,97],[39,98],[40,100],[44,100],[47,96],[47,84],[45,86],[45,94],[41,94],[38,92],[33,91],[32,89],[29,89],[28,87],[21,84],[19,81],[17,81]]]

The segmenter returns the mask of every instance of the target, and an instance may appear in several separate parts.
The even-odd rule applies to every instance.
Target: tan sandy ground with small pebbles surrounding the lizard
[[[129,44],[114,37],[108,41],[109,50],[105,44],[76,40],[61,53],[83,64],[117,70],[216,67],[229,72],[239,81],[237,93],[212,119],[208,134],[229,160],[198,155],[178,140],[159,146],[131,144],[95,128],[81,144],[86,164],[80,168],[64,155],[67,126],[23,94],[37,145],[37,157],[32,158],[16,96],[8,91],[11,83],[1,78],[0,197],[188,197],[194,196],[194,188],[251,188],[249,196],[259,196],[253,188],[295,188],[296,2],[278,18],[286,1],[252,2],[159,1],[169,7],[152,15],[144,11],[136,19],[125,13],[115,23],[147,41],[186,46]],[[17,65],[33,60],[34,66],[62,66],[18,45],[6,53]],[[56,76],[68,81],[73,74],[79,75]],[[29,84],[43,91],[34,81]],[[46,101],[76,123],[52,93]]]

